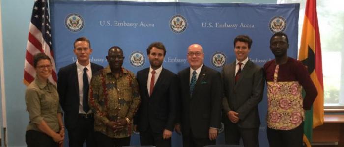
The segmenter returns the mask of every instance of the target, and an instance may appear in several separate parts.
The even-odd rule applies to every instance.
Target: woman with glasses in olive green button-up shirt
[[[52,63],[44,53],[38,53],[33,58],[37,75],[25,93],[30,117],[25,140],[28,147],[62,147],[62,111],[56,86],[48,80]]]

